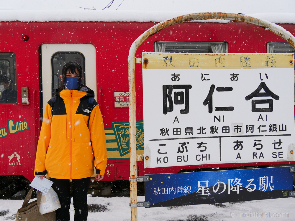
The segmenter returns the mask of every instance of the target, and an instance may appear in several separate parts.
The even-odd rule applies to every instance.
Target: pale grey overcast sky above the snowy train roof
[[[0,9],[15,10],[56,10],[81,9],[78,7],[102,10],[112,0],[10,0],[2,1]],[[279,2],[277,0],[114,0],[104,10],[143,10],[143,11],[195,11],[195,12],[228,12],[228,13],[265,13],[294,12],[294,0]]]

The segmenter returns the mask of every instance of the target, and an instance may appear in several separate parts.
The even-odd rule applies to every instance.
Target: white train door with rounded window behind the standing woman
[[[40,76],[41,116],[46,103],[61,86],[60,75],[63,65],[68,61],[78,62],[83,70],[82,84],[95,92],[96,98],[96,53],[92,44],[42,44],[40,58],[42,64]]]

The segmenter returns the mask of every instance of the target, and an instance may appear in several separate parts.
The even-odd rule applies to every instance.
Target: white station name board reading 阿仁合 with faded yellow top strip
[[[293,54],[145,58],[145,168],[295,160]]]

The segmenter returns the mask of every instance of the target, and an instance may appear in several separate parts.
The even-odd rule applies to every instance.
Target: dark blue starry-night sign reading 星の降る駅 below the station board
[[[147,174],[150,207],[211,204],[289,197],[290,166],[173,174]]]

